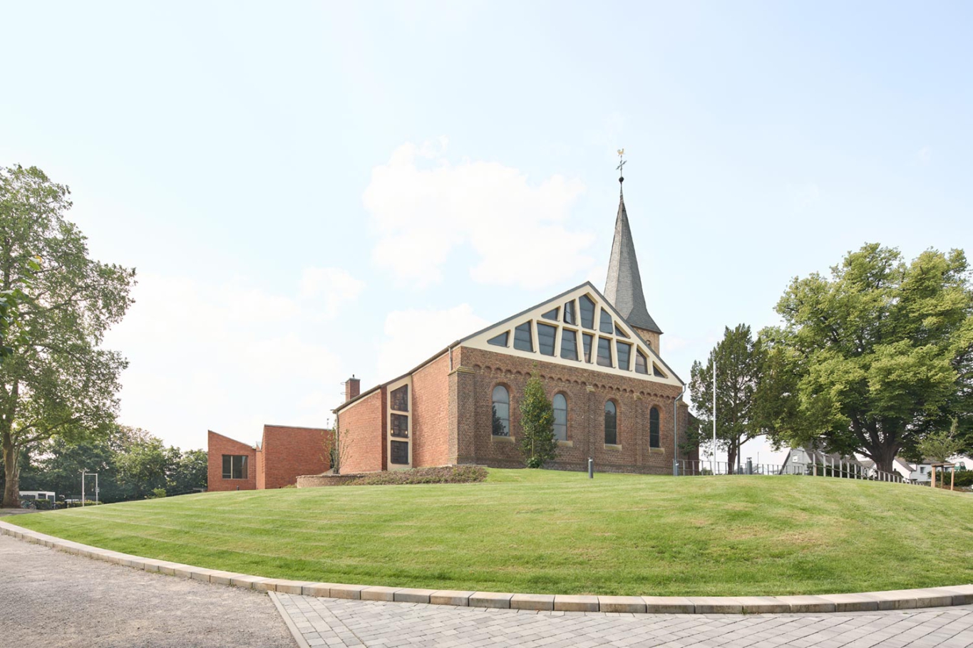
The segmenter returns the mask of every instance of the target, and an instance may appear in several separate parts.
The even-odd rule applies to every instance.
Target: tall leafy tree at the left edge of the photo
[[[26,334],[10,340],[0,365],[4,506],[18,505],[21,449],[55,434],[103,435],[118,409],[126,360],[99,344],[131,303],[135,271],[90,259],[85,236],[64,219],[70,207],[68,189],[41,170],[0,167],[0,291],[31,282],[17,304]]]

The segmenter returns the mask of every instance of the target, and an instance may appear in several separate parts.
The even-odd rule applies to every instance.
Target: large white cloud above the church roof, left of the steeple
[[[362,199],[379,237],[378,266],[423,288],[441,281],[450,253],[468,245],[475,281],[533,289],[593,265],[586,251],[594,234],[566,225],[584,191],[579,181],[554,175],[537,185],[497,162],[452,164],[447,144],[405,144],[372,170]]]

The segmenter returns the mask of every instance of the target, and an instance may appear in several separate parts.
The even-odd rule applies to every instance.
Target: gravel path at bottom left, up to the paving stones
[[[293,648],[266,594],[0,536],[0,645]]]

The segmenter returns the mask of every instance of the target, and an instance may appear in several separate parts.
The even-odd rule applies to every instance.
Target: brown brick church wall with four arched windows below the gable
[[[523,466],[520,403],[528,375],[536,370],[549,398],[561,392],[567,399],[567,440],[550,467],[582,470],[588,458],[596,470],[670,474],[672,470],[672,403],[680,388],[651,381],[614,376],[542,360],[515,358],[480,349],[461,348],[461,365],[450,375],[450,417],[457,429],[455,462],[497,467]],[[492,392],[503,385],[510,392],[511,438],[494,437]],[[618,445],[604,443],[604,404],[618,409]],[[660,447],[649,447],[649,410],[659,408]],[[685,414],[679,417],[685,433]]]

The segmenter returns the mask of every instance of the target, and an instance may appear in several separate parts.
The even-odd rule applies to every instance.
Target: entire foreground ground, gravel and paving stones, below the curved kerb
[[[973,646],[973,605],[830,614],[625,614],[260,593],[0,536],[0,636],[31,646]]]

